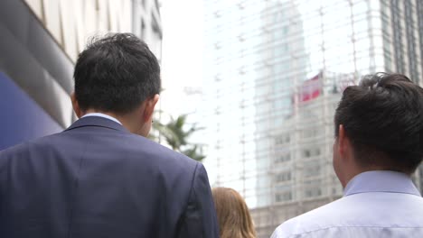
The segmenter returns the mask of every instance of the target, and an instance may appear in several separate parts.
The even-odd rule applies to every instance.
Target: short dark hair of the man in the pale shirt
[[[423,158],[423,88],[400,74],[376,73],[347,87],[334,115],[363,165],[414,172]]]

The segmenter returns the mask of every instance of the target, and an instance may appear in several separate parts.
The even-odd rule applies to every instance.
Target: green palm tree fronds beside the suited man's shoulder
[[[205,158],[202,154],[202,146],[200,144],[187,142],[187,140],[193,133],[202,128],[197,128],[193,125],[188,130],[185,130],[186,116],[186,114],[183,114],[176,119],[171,117],[170,122],[167,124],[155,122],[153,128],[158,132],[155,139],[160,142],[160,139],[163,137],[164,141],[169,144],[174,151],[179,151],[193,160],[201,161]]]

